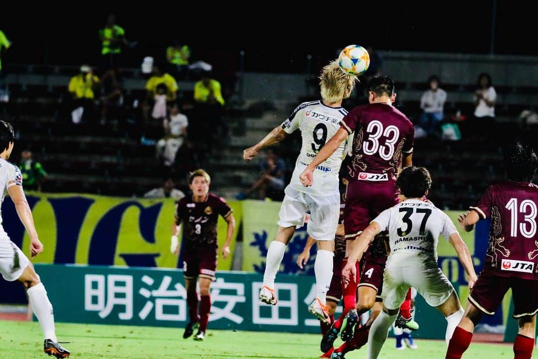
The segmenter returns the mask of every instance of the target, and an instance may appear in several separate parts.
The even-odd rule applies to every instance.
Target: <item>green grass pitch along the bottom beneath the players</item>
[[[320,336],[266,332],[208,330],[206,340],[183,339],[183,329],[81,324],[56,324],[60,341],[68,341],[71,358],[84,359],[228,359],[316,358]],[[0,359],[46,358],[37,322],[0,321]],[[394,339],[387,339],[379,358],[444,358],[444,341],[417,340],[419,349],[397,351]],[[365,348],[346,358],[364,358]],[[473,343],[464,358],[508,359],[512,346]]]

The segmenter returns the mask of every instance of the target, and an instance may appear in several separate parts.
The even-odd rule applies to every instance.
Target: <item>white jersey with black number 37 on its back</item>
[[[437,265],[437,243],[442,234],[448,241],[458,233],[452,220],[433,204],[408,199],[379,214],[373,221],[388,231],[391,254],[387,268],[420,263]]]

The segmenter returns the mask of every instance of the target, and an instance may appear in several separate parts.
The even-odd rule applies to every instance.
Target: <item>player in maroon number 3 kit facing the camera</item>
[[[175,221],[172,229],[171,251],[179,254],[178,235],[183,224],[183,276],[187,290],[187,305],[190,322],[185,328],[183,338],[189,338],[198,329],[194,340],[203,340],[206,335],[211,298],[209,287],[215,280],[217,268],[218,243],[217,221],[222,216],[228,222],[228,234],[222,247],[222,259],[230,255],[230,243],[235,219],[226,201],[209,193],[211,178],[206,171],[198,169],[189,176],[189,188],[192,197],[184,197],[176,205]],[[198,293],[196,281],[200,278],[200,316],[198,315]]]

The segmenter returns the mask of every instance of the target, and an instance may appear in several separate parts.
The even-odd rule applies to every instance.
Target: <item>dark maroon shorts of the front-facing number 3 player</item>
[[[198,276],[215,280],[218,252],[215,248],[186,250],[183,254],[183,277],[196,279]]]

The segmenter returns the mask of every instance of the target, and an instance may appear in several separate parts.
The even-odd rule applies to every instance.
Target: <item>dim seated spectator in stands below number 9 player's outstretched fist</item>
[[[260,163],[263,175],[245,193],[239,193],[237,199],[244,199],[250,193],[258,190],[258,198],[270,198],[272,200],[282,200],[284,198],[284,187],[286,173],[286,163],[280,159],[272,150],[267,151],[265,160]]]

